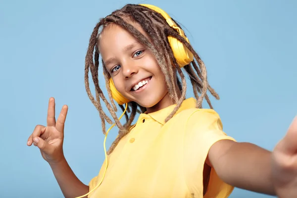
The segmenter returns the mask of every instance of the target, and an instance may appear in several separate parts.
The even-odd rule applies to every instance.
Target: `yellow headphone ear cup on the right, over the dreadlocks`
[[[187,38],[185,39],[189,42]],[[171,36],[168,37],[168,41],[180,67],[184,67],[193,61],[193,53],[182,42]]]

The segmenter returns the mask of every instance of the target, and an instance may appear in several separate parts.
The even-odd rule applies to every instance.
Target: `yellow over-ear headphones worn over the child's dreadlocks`
[[[189,39],[185,36],[184,31],[176,25],[176,23],[171,19],[171,17],[164,10],[154,5],[149,5],[149,4],[140,4],[140,5],[148,7],[160,13],[166,19],[166,22],[168,23],[168,25],[173,29],[175,29],[180,34],[180,36],[182,36],[184,39],[186,39],[188,43],[190,43]],[[187,49],[182,42],[180,42],[179,40],[171,36],[168,37],[168,41],[173,51],[174,57],[180,67],[183,67],[189,64],[191,61],[193,61],[193,53],[189,49]],[[111,96],[117,103],[122,105],[130,101],[129,99],[126,99],[123,95],[121,95],[116,90],[111,78],[109,79],[109,87],[111,91]]]

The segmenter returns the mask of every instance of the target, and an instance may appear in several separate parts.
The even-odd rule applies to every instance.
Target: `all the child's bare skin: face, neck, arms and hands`
[[[139,26],[137,28],[144,34]],[[99,50],[117,90],[128,99],[147,107],[148,112],[171,105],[164,76],[152,53],[118,26],[112,25],[104,31]],[[131,44],[134,45],[132,48],[123,50]],[[113,60],[109,61],[110,58]],[[117,68],[114,69],[115,67]],[[146,77],[152,77],[146,89],[133,93],[131,87]],[[54,99],[50,98],[47,126],[37,125],[27,145],[34,143],[40,149],[43,158],[49,162],[63,195],[73,198],[86,194],[89,187],[75,176],[63,154],[67,110],[68,107],[64,105],[55,120]],[[250,143],[222,140],[210,148],[204,167],[204,190],[209,170],[214,168],[224,182],[235,187],[277,195],[280,198],[296,196],[297,118],[272,152]]]

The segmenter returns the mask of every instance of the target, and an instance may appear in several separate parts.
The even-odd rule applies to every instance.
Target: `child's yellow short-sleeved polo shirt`
[[[89,198],[203,198],[203,166],[209,148],[233,138],[222,131],[219,115],[198,109],[196,99],[184,100],[167,123],[175,105],[140,114],[138,121],[108,156],[105,177]],[[89,184],[100,182],[105,169]],[[204,198],[227,198],[233,187],[212,169]]]

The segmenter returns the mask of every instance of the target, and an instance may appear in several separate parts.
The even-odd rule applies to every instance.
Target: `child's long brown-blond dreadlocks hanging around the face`
[[[143,28],[143,30],[148,34],[148,37],[151,39],[151,42],[142,33],[140,33],[133,25],[131,25],[129,21],[138,23]],[[118,25],[123,29],[127,30],[140,43],[146,46],[154,54],[155,59],[165,76],[165,81],[168,88],[169,96],[171,100],[174,103],[176,103],[175,108],[170,113],[170,115],[168,115],[168,117],[165,119],[165,122],[167,122],[169,119],[172,118],[172,116],[179,109],[183,100],[186,97],[187,83],[186,83],[186,78],[184,73],[186,73],[189,76],[191,84],[193,86],[194,95],[197,99],[196,107],[202,108],[202,101],[205,98],[209,107],[213,108],[207,96],[207,90],[215,99],[219,99],[219,96],[208,84],[205,65],[203,61],[200,59],[198,53],[193,49],[191,44],[189,44],[183,37],[181,37],[176,30],[171,28],[165,21],[164,17],[158,12],[155,12],[149,9],[148,7],[145,7],[142,5],[127,4],[123,8],[113,11],[110,15],[106,16],[105,18],[101,18],[99,20],[99,23],[97,23],[91,35],[89,48],[86,54],[86,61],[85,61],[86,91],[89,98],[91,99],[91,101],[99,111],[103,134],[106,134],[105,121],[109,124],[112,124],[113,122],[102,110],[102,105],[100,100],[104,102],[112,118],[114,119],[115,124],[119,128],[119,135],[110,146],[108,150],[108,154],[110,154],[113,151],[113,149],[117,146],[118,142],[125,135],[129,133],[131,124],[135,118],[136,113],[137,112],[143,113],[146,110],[145,107],[140,106],[134,101],[130,101],[128,103],[128,110],[127,112],[125,112],[126,123],[124,125],[120,123],[115,113],[117,111],[117,107],[112,99],[111,91],[109,87],[110,75],[106,70],[103,61],[102,61],[102,68],[103,68],[105,83],[106,85],[108,85],[106,86],[106,89],[107,89],[110,103],[105,98],[99,86],[99,80],[98,80],[99,39],[104,28],[106,28],[110,24]],[[178,23],[176,24],[178,25]],[[101,32],[99,32],[100,28],[101,28]],[[182,68],[179,67],[174,57],[173,51],[168,42],[168,36],[175,37],[177,40],[182,42],[194,55],[194,60],[190,64],[183,67],[184,72],[182,71]],[[92,79],[95,85],[96,99],[94,98],[94,96],[90,91],[89,70],[91,70]],[[177,78],[175,78],[175,76],[177,76]],[[177,79],[178,87],[176,87],[175,79]],[[178,97],[177,89],[181,91],[181,97]],[[122,110],[124,110],[123,105],[119,105],[119,106]]]

